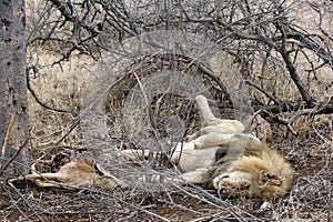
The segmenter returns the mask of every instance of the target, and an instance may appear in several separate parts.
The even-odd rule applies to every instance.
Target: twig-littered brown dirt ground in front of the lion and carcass
[[[333,153],[330,129],[306,139],[274,134],[270,145],[296,170],[291,191],[260,211],[261,200],[220,200],[196,186],[101,192],[1,185],[2,221],[332,221]],[[279,140],[278,140],[279,139]]]

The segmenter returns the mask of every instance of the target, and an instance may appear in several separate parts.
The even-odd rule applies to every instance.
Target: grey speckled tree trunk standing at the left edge
[[[0,176],[12,176],[28,170],[24,0],[0,1]]]

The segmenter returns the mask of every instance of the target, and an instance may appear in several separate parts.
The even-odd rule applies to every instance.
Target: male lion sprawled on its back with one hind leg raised
[[[163,183],[202,184],[214,188],[221,198],[262,198],[272,200],[291,186],[293,169],[276,151],[258,138],[243,133],[238,120],[221,120],[213,115],[203,95],[196,97],[204,127],[179,143],[170,160],[184,173]],[[135,159],[149,151],[124,150],[121,157]],[[159,182],[159,176],[155,178]]]

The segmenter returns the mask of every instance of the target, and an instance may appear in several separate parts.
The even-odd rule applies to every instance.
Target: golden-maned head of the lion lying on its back
[[[211,178],[221,196],[272,200],[290,189],[294,170],[280,153],[248,134],[236,134],[231,149],[238,151],[221,159]]]

